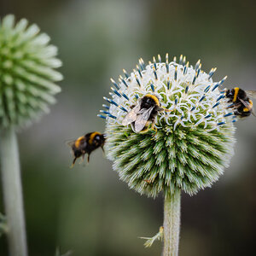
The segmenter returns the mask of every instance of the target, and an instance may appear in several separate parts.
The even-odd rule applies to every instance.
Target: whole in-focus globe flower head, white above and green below
[[[233,123],[236,116],[220,87],[224,79],[212,81],[212,75],[195,67],[181,56],[176,61],[154,58],[119,83],[113,79],[110,106],[102,110],[106,119],[106,151],[121,180],[140,194],[155,197],[182,189],[195,194],[218,180],[230,163],[235,143]],[[122,121],[145,95],[157,96],[166,111],[156,116],[157,131],[135,132]],[[149,122],[150,123],[150,122]]]

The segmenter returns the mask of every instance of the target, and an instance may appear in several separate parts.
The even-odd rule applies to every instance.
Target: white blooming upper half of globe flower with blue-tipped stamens
[[[160,56],[159,61],[161,61]],[[119,84],[111,79],[115,87],[111,92],[113,99],[105,97],[105,100],[110,103],[110,108],[104,105],[107,107],[107,111],[102,110],[101,112],[106,116],[102,114],[100,116],[115,119],[112,121],[127,125],[129,124],[127,116],[130,117],[132,114],[134,122],[134,113],[138,108],[134,108],[133,111],[127,109],[138,106],[144,96],[153,95],[157,97],[154,102],[160,102],[170,112],[169,114],[160,114],[163,111],[161,109],[155,113],[155,115],[159,115],[157,117],[158,125],[161,124],[162,119],[165,119],[166,124],[171,125],[172,123],[174,130],[179,124],[187,127],[197,126],[201,123],[205,125],[205,128],[208,126],[208,129],[218,129],[219,125],[226,123],[228,117],[226,114],[229,114],[229,117],[232,114],[230,114],[231,110],[226,109],[225,102],[227,101],[224,99],[224,93],[218,90],[226,77],[218,83],[213,83],[212,75],[215,71],[216,68],[212,68],[209,74],[203,72],[200,61],[196,63],[195,69],[189,67],[189,62],[185,65],[183,56],[181,56],[179,64],[176,63],[176,58],[169,63],[168,55],[166,55],[166,63],[156,63],[154,58],[154,63],[149,62],[147,67],[141,59],[137,70],[134,70],[130,77],[124,70],[125,79],[120,76]],[[130,115],[127,115],[127,112]],[[146,113],[145,116],[147,116]],[[236,121],[236,118],[233,119],[233,117],[229,119]],[[152,126],[154,128],[154,122]]]

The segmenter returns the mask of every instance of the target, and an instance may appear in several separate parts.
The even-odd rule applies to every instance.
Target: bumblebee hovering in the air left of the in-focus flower
[[[73,151],[73,163],[74,166],[76,160],[82,156],[82,161],[84,160],[84,155],[87,154],[87,161],[90,160],[90,153],[94,151],[96,148],[102,148],[104,152],[104,143],[105,143],[105,135],[100,132],[94,131],[85,134],[82,137],[77,138],[76,140],[67,143],[72,151]]]

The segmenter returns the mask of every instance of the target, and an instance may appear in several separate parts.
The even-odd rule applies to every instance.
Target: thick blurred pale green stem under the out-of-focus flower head
[[[23,212],[20,160],[14,128],[0,132],[0,156],[4,208],[9,232],[9,255],[26,256],[26,230]]]

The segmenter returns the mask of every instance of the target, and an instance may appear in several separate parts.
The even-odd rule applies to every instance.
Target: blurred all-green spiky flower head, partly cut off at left
[[[15,24],[15,16],[0,20],[0,127],[20,127],[49,112],[55,84],[62,79],[54,70],[61,67],[55,58],[57,49],[49,45],[49,36],[39,33],[26,19]]]

